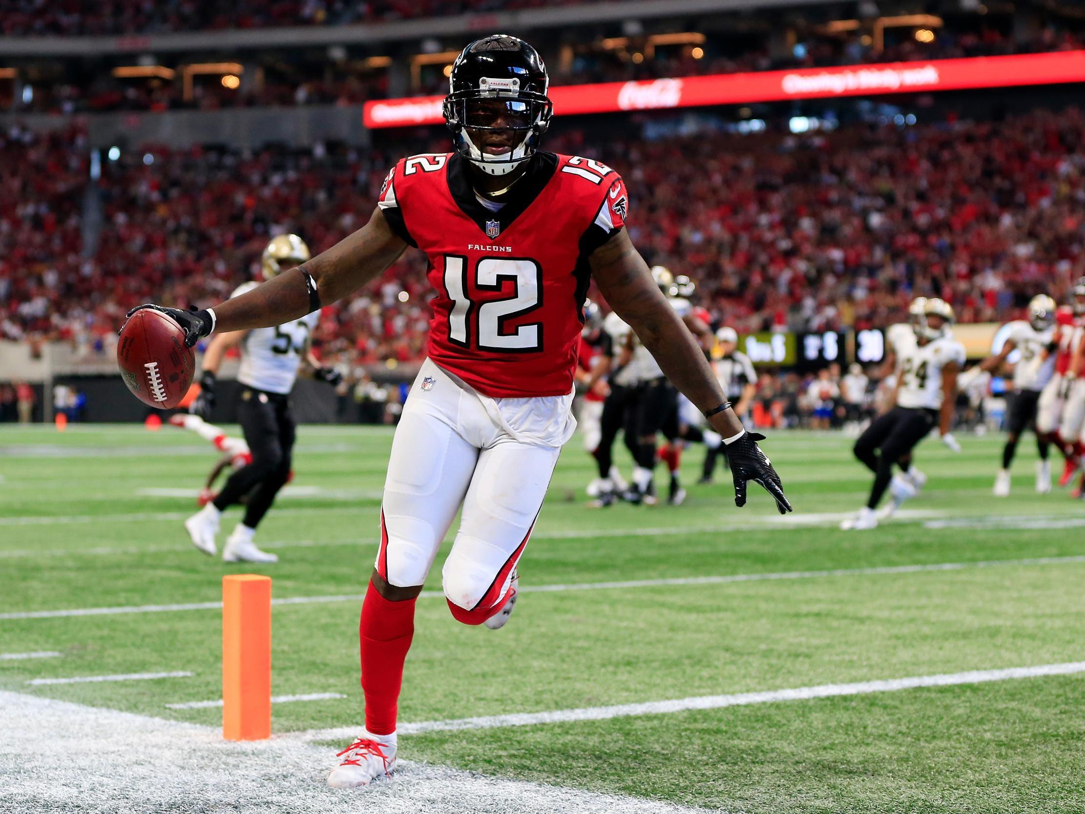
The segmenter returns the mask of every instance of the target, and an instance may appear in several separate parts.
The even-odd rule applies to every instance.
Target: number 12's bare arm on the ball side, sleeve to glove
[[[406,247],[381,211],[374,209],[368,224],[327,252],[216,305],[216,330],[272,328],[299,319],[314,310],[306,274],[316,283],[319,306],[330,305],[383,274]]]

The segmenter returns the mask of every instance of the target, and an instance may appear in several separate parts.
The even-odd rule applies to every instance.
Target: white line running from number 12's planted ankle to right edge
[[[613,707],[584,707],[575,710],[553,710],[550,712],[519,712],[511,715],[481,715],[449,721],[422,721],[400,724],[400,735],[418,735],[427,732],[454,732],[458,729],[494,729],[506,726],[534,726],[537,724],[561,724],[573,721],[605,721],[628,715],[661,715],[689,710],[718,710],[725,707],[746,707],[755,703],[779,701],[809,701],[816,698],[838,696],[865,696],[872,692],[895,692],[920,687],[953,687],[960,684],[984,684],[1014,678],[1038,678],[1050,675],[1074,675],[1085,673],[1085,661],[1062,664],[1041,664],[1032,667],[1009,667],[1005,670],[971,670],[963,673],[942,673],[939,675],[916,675],[907,678],[888,678],[854,684],[821,684],[816,687],[795,687],[763,692],[738,692],[724,696],[698,696],[677,698],[668,701],[646,703],[624,703]],[[356,728],[356,727],[355,727]],[[298,737],[306,740],[337,740],[352,737],[355,728],[310,729]]]

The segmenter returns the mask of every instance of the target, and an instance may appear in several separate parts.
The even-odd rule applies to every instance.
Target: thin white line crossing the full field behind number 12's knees
[[[965,571],[981,568],[1011,565],[1063,565],[1085,562],[1085,555],[1071,557],[1025,557],[1016,560],[978,560],[975,562],[935,562],[917,565],[881,565],[875,568],[839,568],[824,571],[777,571],[752,574],[720,574],[717,576],[675,576],[659,580],[621,580],[614,582],[557,583],[550,585],[522,585],[523,593],[552,593],[565,590],[610,590],[622,588],[655,588],[668,585],[728,585],[742,582],[775,580],[814,580],[826,576],[873,576],[881,574],[920,574],[931,571]],[[443,598],[439,590],[423,590],[425,599]],[[363,594],[332,594],[328,596],[280,597],[271,605],[320,605],[326,602],[358,602]],[[5,619],[62,619],[65,616],[100,616],[117,613],[170,613],[178,611],[218,610],[221,602],[187,602],[180,605],[120,605],[110,608],[71,608],[63,610],[12,611],[0,613]]]

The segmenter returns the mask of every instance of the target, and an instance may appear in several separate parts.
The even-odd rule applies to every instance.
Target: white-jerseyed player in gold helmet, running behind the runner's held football
[[[280,234],[271,240],[260,257],[264,279],[307,259],[309,247],[301,238]],[[233,296],[256,285],[256,282],[243,283]],[[261,551],[253,538],[256,526],[290,478],[295,430],[289,397],[297,369],[305,358],[315,369],[316,378],[331,384],[342,380],[336,370],[321,367],[309,349],[309,339],[319,320],[320,311],[314,311],[277,328],[216,334],[204,352],[201,392],[192,405],[192,412],[205,420],[209,418],[215,405],[218,367],[229,348],[240,346],[238,383],[242,386],[238,420],[252,454],[252,462],[234,470],[215,499],[184,521],[192,544],[204,554],[214,556],[217,550],[215,536],[222,511],[247,498],[245,514],[226,540],[222,559],[227,562],[276,562],[279,559]]]

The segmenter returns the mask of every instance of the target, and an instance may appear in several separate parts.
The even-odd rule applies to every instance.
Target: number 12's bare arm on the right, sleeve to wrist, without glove
[[[667,304],[625,229],[597,249],[590,263],[607,303],[629,323],[671,383],[702,412],[726,402],[697,340]],[[709,421],[724,437],[742,431],[742,422],[730,409]]]

